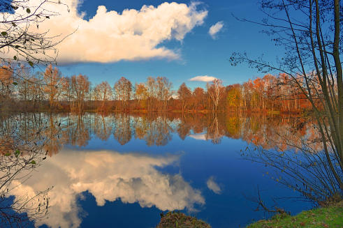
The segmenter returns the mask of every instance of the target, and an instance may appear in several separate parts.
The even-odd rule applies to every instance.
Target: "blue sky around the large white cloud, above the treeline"
[[[85,13],[83,19],[89,20],[96,15],[98,6],[105,6],[117,13],[125,9],[140,10],[143,5],[158,7],[164,1],[91,1],[85,0],[78,6],[79,13]],[[172,2],[172,1],[167,1]],[[176,1],[191,5],[191,1]],[[203,24],[194,26],[182,40],[163,40],[157,47],[166,47],[179,54],[178,59],[145,58],[139,60],[120,60],[108,63],[87,61],[84,63],[64,63],[59,66],[63,75],[87,75],[92,84],[108,81],[111,86],[120,77],[133,82],[145,82],[148,76],[164,76],[173,82],[177,89],[182,82],[188,86],[205,86],[205,82],[190,82],[198,75],[209,75],[222,79],[224,85],[242,83],[249,78],[263,76],[247,65],[231,66],[228,58],[232,52],[247,52],[250,56],[260,56],[272,61],[282,50],[278,50],[270,37],[261,33],[263,28],[248,22],[238,22],[237,17],[261,20],[263,14],[258,10],[256,1],[202,1],[197,10],[207,10]],[[213,39],[209,34],[210,26],[223,22],[224,27]],[[96,45],[96,44],[89,44]]]

